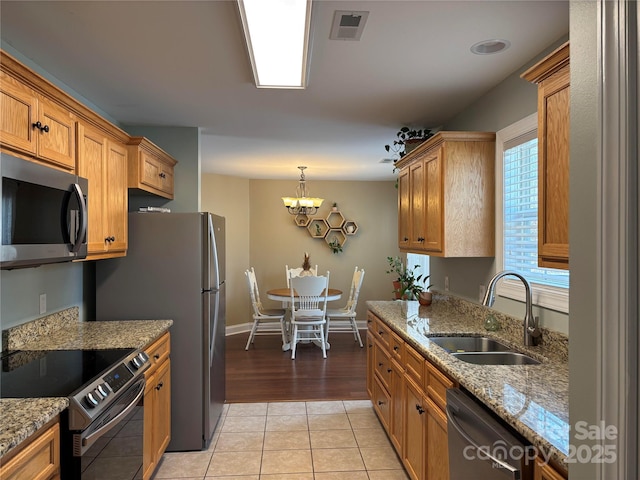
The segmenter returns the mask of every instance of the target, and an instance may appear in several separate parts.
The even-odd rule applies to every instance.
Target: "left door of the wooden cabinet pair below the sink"
[[[426,418],[422,390],[405,375],[402,463],[412,480],[424,479]]]

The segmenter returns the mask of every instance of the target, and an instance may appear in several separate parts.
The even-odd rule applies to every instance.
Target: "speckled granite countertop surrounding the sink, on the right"
[[[448,295],[431,306],[417,301],[368,301],[378,318],[536,446],[563,465],[569,451],[568,338],[543,329],[543,345],[525,347],[522,320]],[[488,312],[502,328],[483,327]],[[495,338],[526,353],[540,365],[475,365],[458,360],[429,336],[474,334]]]

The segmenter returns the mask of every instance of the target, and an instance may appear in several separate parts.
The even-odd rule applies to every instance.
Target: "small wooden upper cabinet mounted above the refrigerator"
[[[129,188],[173,199],[173,171],[178,163],[144,137],[129,141]]]

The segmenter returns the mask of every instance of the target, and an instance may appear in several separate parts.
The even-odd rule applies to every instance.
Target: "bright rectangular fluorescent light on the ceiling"
[[[238,0],[256,86],[305,88],[311,0]]]

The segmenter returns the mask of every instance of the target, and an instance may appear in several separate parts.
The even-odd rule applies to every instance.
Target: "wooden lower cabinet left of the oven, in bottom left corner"
[[[8,460],[0,459],[2,480],[49,480],[60,478],[60,423],[55,419],[40,433],[18,447]]]

